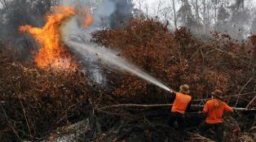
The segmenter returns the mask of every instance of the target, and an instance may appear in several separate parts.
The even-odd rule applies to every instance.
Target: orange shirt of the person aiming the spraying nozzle
[[[171,108],[171,112],[179,112],[180,114],[185,114],[185,110],[187,110],[188,104],[191,100],[192,97],[186,94],[176,93],[174,105]]]

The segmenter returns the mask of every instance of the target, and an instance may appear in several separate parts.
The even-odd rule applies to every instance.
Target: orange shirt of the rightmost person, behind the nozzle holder
[[[223,123],[224,111],[232,112],[232,107],[228,106],[225,102],[211,99],[206,102],[203,112],[207,114],[205,123]]]

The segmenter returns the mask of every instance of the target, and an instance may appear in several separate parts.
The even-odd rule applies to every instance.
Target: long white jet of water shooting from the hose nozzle
[[[118,67],[124,71],[130,72],[133,75],[137,75],[139,78],[146,80],[149,83],[155,84],[158,87],[165,89],[166,91],[170,91],[170,88],[168,88],[165,84],[162,84],[159,80],[153,78],[151,75],[148,75],[138,67],[135,67],[130,62],[127,62],[124,58],[117,56],[117,53],[115,53],[112,49],[106,49],[104,47],[78,43],[70,40],[65,40],[64,42],[69,46],[69,48],[75,50],[77,53],[82,54],[85,57],[88,54],[95,54],[96,57],[105,64]]]

